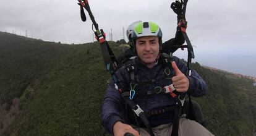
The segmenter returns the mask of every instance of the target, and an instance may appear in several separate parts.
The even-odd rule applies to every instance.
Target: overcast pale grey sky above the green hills
[[[61,43],[93,41],[92,21],[82,22],[78,1],[0,1],[0,31]],[[107,40],[123,38],[122,28],[137,20],[153,21],[163,31],[163,41],[176,32],[176,14],[170,0],[88,0]],[[256,1],[189,1],[187,35],[195,59],[202,65],[256,77]],[[127,39],[126,39],[127,40]],[[186,51],[174,55],[186,57]]]

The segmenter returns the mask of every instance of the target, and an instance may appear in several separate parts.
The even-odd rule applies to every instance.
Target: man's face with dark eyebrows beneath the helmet
[[[156,61],[159,46],[157,36],[143,36],[136,40],[137,54],[145,64],[152,64]]]

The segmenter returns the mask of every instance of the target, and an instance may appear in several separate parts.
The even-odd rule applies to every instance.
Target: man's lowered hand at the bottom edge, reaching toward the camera
[[[117,121],[116,123],[114,123],[114,126],[113,126],[114,136],[124,136],[124,134],[126,134],[127,132],[135,136],[139,136],[139,132],[133,129],[130,125],[123,124],[120,121]]]

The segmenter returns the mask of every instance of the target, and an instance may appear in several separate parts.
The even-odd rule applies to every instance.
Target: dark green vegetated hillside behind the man
[[[207,128],[215,135],[252,135],[252,80],[197,62],[193,68],[208,84],[208,95],[194,98]],[[62,45],[0,32],[0,134],[108,135],[100,106],[109,79],[96,42]]]

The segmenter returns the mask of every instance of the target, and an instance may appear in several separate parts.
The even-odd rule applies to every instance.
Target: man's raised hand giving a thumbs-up
[[[187,79],[186,75],[184,75],[181,70],[176,65],[176,62],[172,62],[171,65],[173,66],[173,69],[176,73],[176,76],[174,76],[171,80],[173,80],[174,88],[176,88],[176,91],[179,92],[186,92],[189,89],[189,79]]]

